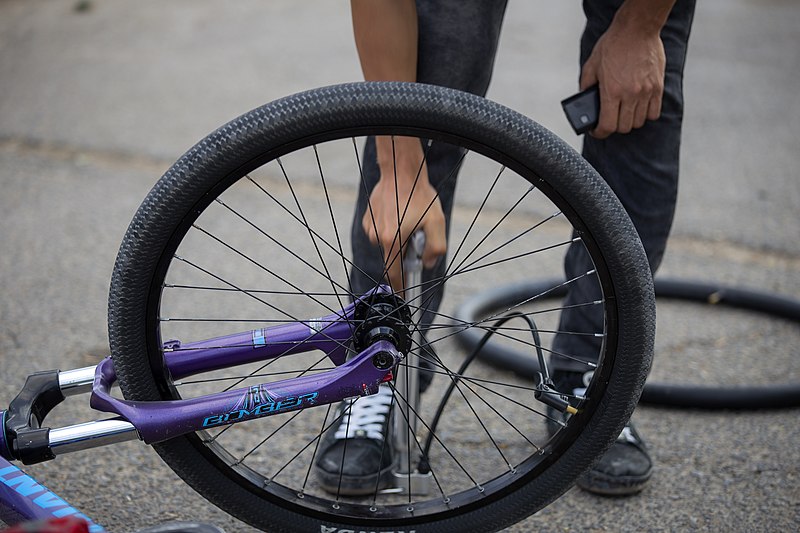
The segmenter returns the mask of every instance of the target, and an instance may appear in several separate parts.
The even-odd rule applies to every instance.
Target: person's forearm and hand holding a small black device
[[[628,133],[661,115],[666,56],[661,28],[676,0],[626,0],[581,71],[581,89],[600,85],[592,135]]]

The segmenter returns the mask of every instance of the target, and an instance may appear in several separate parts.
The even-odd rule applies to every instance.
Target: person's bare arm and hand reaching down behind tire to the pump
[[[351,0],[351,11],[364,79],[416,81],[414,0]],[[399,244],[408,239],[415,227],[422,229],[423,262],[427,267],[433,266],[447,249],[444,213],[428,180],[419,139],[376,137],[375,142],[381,177],[370,194],[362,225],[370,241],[381,244],[389,282],[399,291],[403,288]]]

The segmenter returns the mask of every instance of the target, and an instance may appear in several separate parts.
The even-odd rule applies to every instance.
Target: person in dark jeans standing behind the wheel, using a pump
[[[352,0],[351,8],[367,81],[416,81],[486,95],[506,0]],[[677,201],[683,70],[694,8],[695,0],[583,2],[580,88],[598,85],[601,105],[597,127],[584,138],[582,154],[633,220],[652,272],[663,258]],[[421,144],[412,138],[367,141],[366,190],[359,188],[351,232],[358,266],[351,272],[356,294],[370,290],[384,276],[395,290],[402,290],[400,243],[416,227],[426,236],[423,283],[441,277],[455,190],[455,180],[447,175],[459,157],[457,150],[434,143],[423,158]],[[405,213],[399,227],[397,213]],[[567,279],[592,268],[582,246],[568,249],[564,268]],[[602,315],[587,307],[569,308],[571,300],[591,297],[591,290],[587,284],[572,284],[560,331],[602,330]],[[440,300],[441,294],[432,298],[428,312],[435,312]],[[557,354],[596,357],[599,341],[556,336],[551,368],[558,390],[580,389],[585,376],[573,360]],[[384,445],[391,431],[391,403],[386,387],[353,404],[352,409],[369,413],[362,419],[369,420],[370,431],[354,423],[356,416],[350,416],[346,427],[343,423],[332,428],[315,462],[323,479],[375,486],[376,477],[392,464],[391,446]],[[645,487],[652,470],[647,448],[629,422],[578,485],[596,494],[635,494]],[[338,490],[347,493],[347,487]]]

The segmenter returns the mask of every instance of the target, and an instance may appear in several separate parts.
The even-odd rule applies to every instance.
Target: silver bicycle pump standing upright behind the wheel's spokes
[[[419,230],[409,239],[403,257],[404,285],[407,287],[403,298],[411,302],[412,322],[419,324],[422,320],[422,308],[419,304],[422,292],[422,251],[425,248],[425,234]],[[420,474],[412,457],[419,451],[417,445],[417,415],[419,412],[419,350],[423,343],[419,327],[412,327],[412,342],[409,353],[405,354],[406,367],[398,368],[395,389],[400,397],[395,399],[394,444],[398,456],[397,470],[394,472],[395,490],[411,494],[427,494],[429,491],[430,473]]]

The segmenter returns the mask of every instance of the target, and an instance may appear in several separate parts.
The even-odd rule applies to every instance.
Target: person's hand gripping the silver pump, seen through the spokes
[[[401,292],[403,252],[415,230],[425,232],[422,261],[426,268],[433,267],[447,251],[444,212],[428,181],[419,139],[378,137],[376,143],[381,177],[361,222],[370,242],[380,244],[383,250],[389,283]]]

